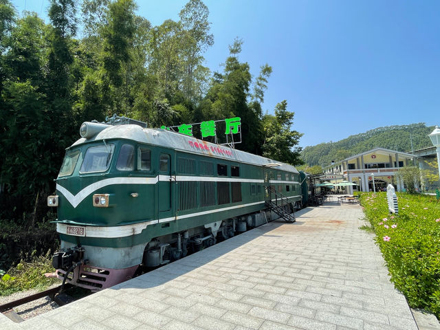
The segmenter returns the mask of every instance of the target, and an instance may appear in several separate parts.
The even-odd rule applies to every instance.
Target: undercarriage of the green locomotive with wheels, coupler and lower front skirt
[[[123,249],[94,246],[67,248],[69,243],[62,242],[62,250],[54,254],[52,264],[56,268],[58,278],[63,281],[99,291],[133,278],[140,270],[153,270],[187,254],[199,252],[217,242],[230,239],[236,233],[245,232],[267,222],[267,218],[270,218],[270,214],[267,217],[264,212],[247,214],[159,236],[146,245]],[[131,265],[127,265],[127,260],[132,260]],[[110,268],[101,265],[110,265]]]

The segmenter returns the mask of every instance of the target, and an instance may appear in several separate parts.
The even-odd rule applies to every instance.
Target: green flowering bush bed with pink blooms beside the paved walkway
[[[433,196],[404,193],[397,193],[397,200],[399,214],[390,216],[385,192],[360,196],[391,281],[411,307],[439,318],[440,203]]]

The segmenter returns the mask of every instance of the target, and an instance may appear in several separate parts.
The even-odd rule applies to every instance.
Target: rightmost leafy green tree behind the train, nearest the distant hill
[[[263,127],[265,142],[263,155],[292,165],[303,164],[300,159],[301,148],[298,142],[303,133],[292,131],[294,113],[287,111],[287,101],[276,104],[275,115],[265,115]]]

